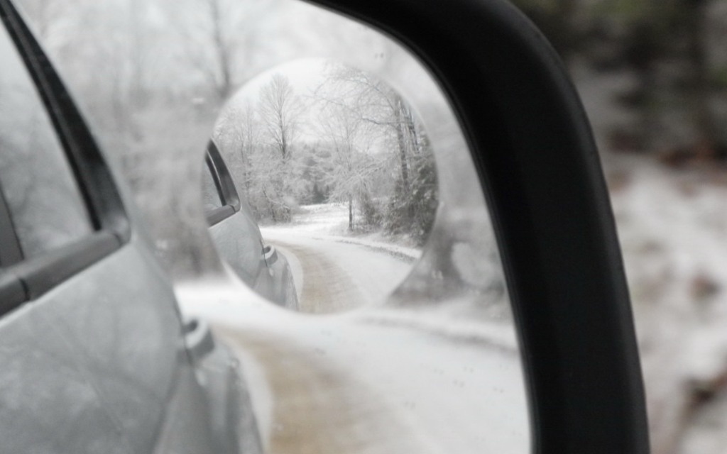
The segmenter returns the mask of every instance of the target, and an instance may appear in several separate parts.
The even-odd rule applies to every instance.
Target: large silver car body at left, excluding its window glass
[[[25,63],[94,219],[81,240],[13,258],[0,197],[0,452],[260,452],[236,361],[204,323],[182,323],[116,171],[9,0],[0,13],[3,70]]]

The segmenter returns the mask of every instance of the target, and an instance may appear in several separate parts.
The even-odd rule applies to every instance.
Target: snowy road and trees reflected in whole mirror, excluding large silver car
[[[238,356],[259,428],[243,437],[529,452],[483,187],[416,58],[301,1],[23,3],[123,164],[182,312]]]

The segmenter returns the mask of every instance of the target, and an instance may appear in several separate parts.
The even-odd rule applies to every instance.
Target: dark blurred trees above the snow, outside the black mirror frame
[[[609,150],[672,165],[727,161],[727,11],[722,0],[515,0],[572,72],[627,76],[630,111]]]

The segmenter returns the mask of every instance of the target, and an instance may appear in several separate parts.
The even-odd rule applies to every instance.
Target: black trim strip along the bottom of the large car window
[[[38,298],[120,246],[121,241],[116,235],[95,232],[76,243],[4,269],[0,279],[0,315]],[[18,291],[19,286],[22,292]]]

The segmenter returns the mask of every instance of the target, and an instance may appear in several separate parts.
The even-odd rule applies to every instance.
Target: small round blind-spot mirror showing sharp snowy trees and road
[[[421,256],[438,206],[434,154],[411,106],[371,73],[325,60],[278,67],[228,102],[213,140],[246,201],[241,216],[294,264],[299,301],[284,306],[381,305]],[[212,230],[228,265],[274,299],[265,289],[279,283],[251,281],[227,253],[245,234],[255,232]]]

